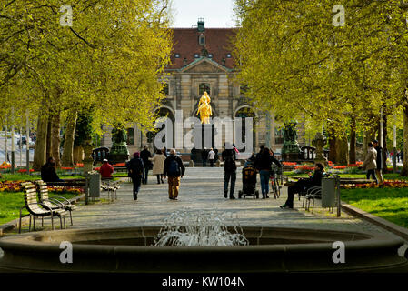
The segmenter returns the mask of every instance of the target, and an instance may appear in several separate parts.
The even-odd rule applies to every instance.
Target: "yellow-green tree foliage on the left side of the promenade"
[[[12,107],[17,121],[26,109],[32,116],[56,111],[64,117],[92,107],[98,125],[151,126],[172,48],[166,3],[73,0],[69,27],[59,23],[61,0],[3,1],[0,122]]]

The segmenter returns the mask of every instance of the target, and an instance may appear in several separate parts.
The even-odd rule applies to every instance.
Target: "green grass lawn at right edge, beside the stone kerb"
[[[374,216],[408,227],[408,189],[406,188],[342,189],[341,199]]]

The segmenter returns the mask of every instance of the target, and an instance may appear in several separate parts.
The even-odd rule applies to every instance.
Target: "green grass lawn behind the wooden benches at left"
[[[55,196],[63,196],[66,199],[75,197],[75,194],[53,194],[49,193],[50,198]],[[15,192],[7,193],[0,192],[0,225],[3,225],[20,216],[20,208],[24,206],[24,193]],[[23,211],[23,215],[28,214],[26,210]]]

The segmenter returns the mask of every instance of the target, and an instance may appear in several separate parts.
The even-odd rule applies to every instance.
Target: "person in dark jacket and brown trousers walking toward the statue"
[[[175,149],[170,150],[170,155],[164,161],[164,178],[167,176],[169,184],[169,199],[177,200],[180,187],[180,177],[184,176],[185,167],[182,159],[175,155]]]

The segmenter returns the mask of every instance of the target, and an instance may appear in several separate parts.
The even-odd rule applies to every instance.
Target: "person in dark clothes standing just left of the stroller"
[[[228,184],[231,180],[230,199],[235,199],[234,189],[236,181],[236,152],[234,148],[225,144],[225,149],[223,153],[221,153],[221,158],[224,161],[224,198],[228,198]]]

